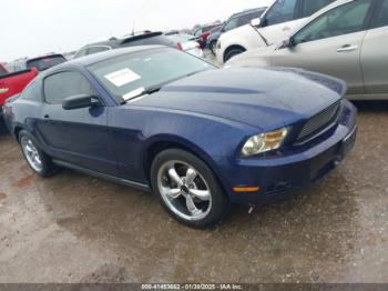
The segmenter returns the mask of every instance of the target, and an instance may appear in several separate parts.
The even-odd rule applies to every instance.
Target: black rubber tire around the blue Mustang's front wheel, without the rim
[[[198,221],[188,221],[176,215],[169,208],[163,197],[161,195],[157,187],[157,172],[165,162],[171,160],[180,160],[191,164],[206,180],[206,183],[212,193],[212,209],[211,209],[211,212],[207,214],[207,217],[205,217],[204,219]],[[227,197],[224,194],[224,191],[219,182],[217,181],[217,178],[213,173],[213,171],[206,165],[205,162],[203,162],[196,155],[184,150],[180,150],[180,149],[165,150],[155,157],[151,167],[151,184],[152,184],[153,192],[157,195],[163,208],[177,221],[192,228],[202,229],[202,228],[211,227],[222,221],[229,210],[229,201]]]

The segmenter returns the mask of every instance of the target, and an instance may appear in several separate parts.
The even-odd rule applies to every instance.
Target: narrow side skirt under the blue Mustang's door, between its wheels
[[[89,174],[89,175],[93,175],[93,177],[101,178],[101,179],[104,179],[104,180],[109,180],[109,181],[112,181],[112,182],[116,182],[116,183],[120,183],[120,184],[129,185],[131,188],[134,188],[134,189],[137,189],[137,190],[141,190],[141,191],[151,192],[151,188],[147,184],[130,181],[130,180],[118,178],[118,177],[110,175],[110,174],[95,172],[95,171],[88,170],[88,169],[78,167],[75,164],[63,162],[63,161],[60,161],[60,160],[52,160],[52,162],[58,164],[58,165],[60,165],[60,167],[72,169],[72,170],[78,171],[78,172],[83,172],[83,173]]]

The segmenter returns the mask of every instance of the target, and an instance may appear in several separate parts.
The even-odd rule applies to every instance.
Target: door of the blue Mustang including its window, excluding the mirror
[[[38,124],[39,133],[54,159],[115,174],[116,161],[106,128],[109,108],[62,108],[65,98],[81,94],[99,96],[79,71],[62,71],[47,77],[43,80],[44,102]]]

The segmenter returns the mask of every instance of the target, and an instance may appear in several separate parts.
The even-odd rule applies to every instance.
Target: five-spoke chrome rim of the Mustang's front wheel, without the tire
[[[202,220],[212,210],[212,193],[205,179],[186,162],[164,163],[157,172],[157,187],[169,209],[185,220]]]

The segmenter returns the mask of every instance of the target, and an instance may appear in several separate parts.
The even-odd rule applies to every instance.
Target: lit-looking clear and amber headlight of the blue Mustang
[[[252,137],[243,147],[242,154],[244,157],[251,157],[263,152],[276,150],[280,148],[287,134],[288,129],[283,128],[279,130]]]

